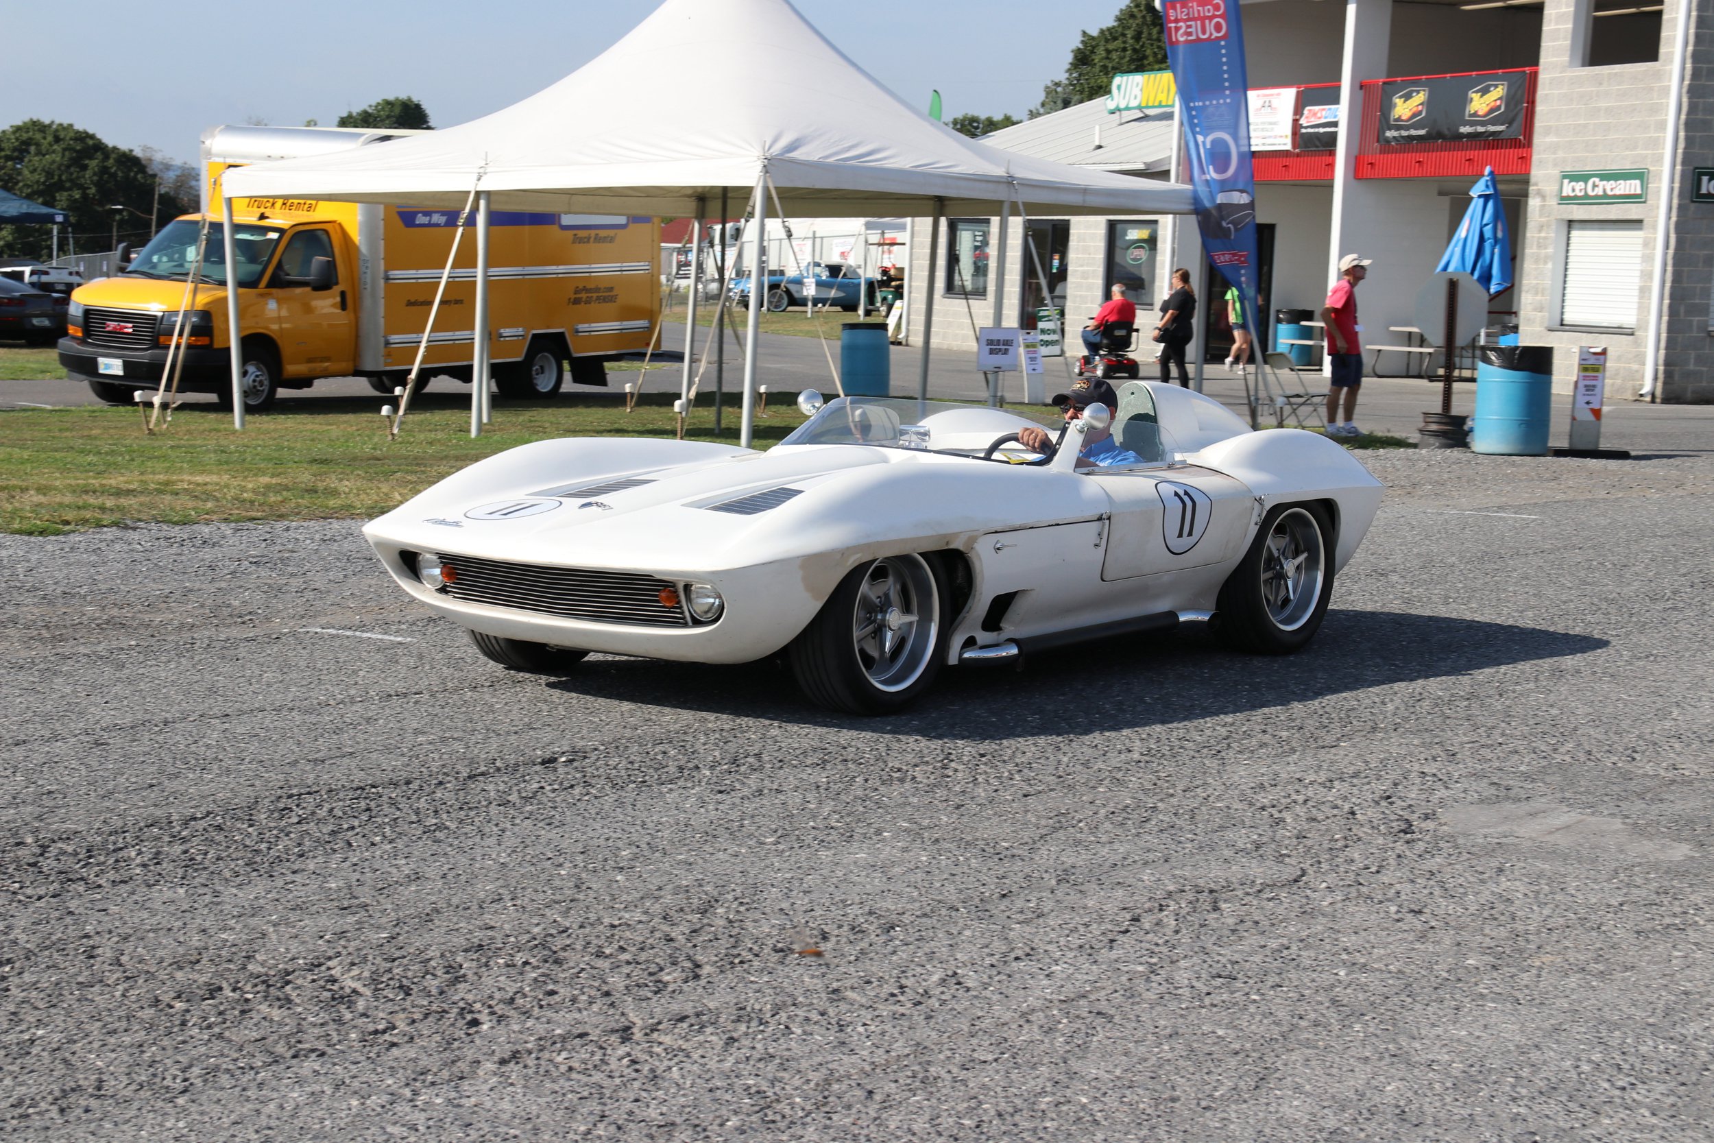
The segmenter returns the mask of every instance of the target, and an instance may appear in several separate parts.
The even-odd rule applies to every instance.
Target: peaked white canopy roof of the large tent
[[[780,82],[763,82],[780,77]],[[795,96],[814,77],[809,103]],[[1186,187],[987,147],[903,103],[787,0],[667,0],[552,87],[411,139],[235,170],[228,197],[689,218],[766,168],[799,216],[1188,212]]]

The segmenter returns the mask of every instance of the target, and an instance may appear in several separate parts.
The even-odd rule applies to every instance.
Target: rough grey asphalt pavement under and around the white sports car
[[[888,720],[507,673],[350,521],[0,536],[0,1134],[1704,1143],[1714,461],[1363,456],[1303,655]]]

